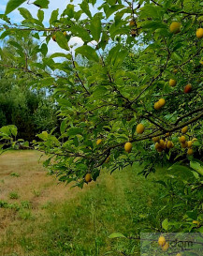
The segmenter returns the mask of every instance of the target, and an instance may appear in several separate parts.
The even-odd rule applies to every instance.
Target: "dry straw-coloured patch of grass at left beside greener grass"
[[[36,151],[12,151],[0,156],[0,203],[30,204],[32,214],[37,217],[43,214],[46,204],[73,199],[94,186],[80,189],[59,184],[43,168],[42,160],[38,161],[40,156]],[[0,235],[18,218],[15,210],[0,205]]]

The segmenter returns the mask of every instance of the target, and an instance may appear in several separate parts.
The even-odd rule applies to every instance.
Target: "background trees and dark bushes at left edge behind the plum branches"
[[[15,125],[18,128],[18,137],[32,142],[37,133],[42,130],[51,131],[57,126],[57,106],[53,104],[51,92],[28,86],[32,77],[13,73],[10,69],[10,66],[19,65],[18,53],[13,46],[16,39],[9,38],[1,50],[5,59],[0,69],[0,127]],[[37,46],[32,38],[26,43],[18,40],[18,45],[27,53],[27,58],[30,58],[30,53]],[[37,60],[37,54],[33,56],[33,60]]]

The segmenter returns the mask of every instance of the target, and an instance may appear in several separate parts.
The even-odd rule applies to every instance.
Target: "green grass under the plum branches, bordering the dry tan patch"
[[[148,228],[155,231],[165,218],[166,210],[158,212],[166,205],[159,200],[161,188],[139,171],[137,166],[112,175],[103,171],[73,200],[47,203],[36,218],[20,218],[7,229],[2,255],[139,255],[137,240],[109,239],[110,233],[133,238]]]

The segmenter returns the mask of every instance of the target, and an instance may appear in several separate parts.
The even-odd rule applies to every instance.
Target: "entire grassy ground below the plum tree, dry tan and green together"
[[[137,175],[140,169],[105,170],[83,189],[58,184],[35,151],[0,157],[0,255],[139,255],[134,239],[160,228],[165,207],[159,186]],[[149,224],[150,223],[150,224]]]

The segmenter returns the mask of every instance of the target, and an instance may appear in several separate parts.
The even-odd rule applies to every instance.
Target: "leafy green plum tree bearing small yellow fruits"
[[[19,8],[23,2],[8,1],[0,16],[1,38],[10,37],[18,54],[1,52],[0,65],[19,78],[32,78],[33,89],[53,92],[60,109],[60,135],[54,130],[40,133],[33,143],[48,155],[45,166],[51,173],[82,187],[85,174],[96,180],[107,162],[114,171],[140,161],[143,173],[149,174],[160,160],[200,158],[200,0],[178,1],[175,7],[172,0],[82,0],[80,10],[71,3],[61,14],[53,10],[49,24],[44,21],[48,0],[37,1],[35,17],[29,5]],[[7,17],[15,8],[21,24]],[[15,40],[28,37],[38,40],[35,53],[40,59],[26,58]],[[81,44],[71,45],[76,38]],[[49,54],[51,39],[62,51]],[[180,136],[181,146],[193,150],[191,156],[178,143]]]

